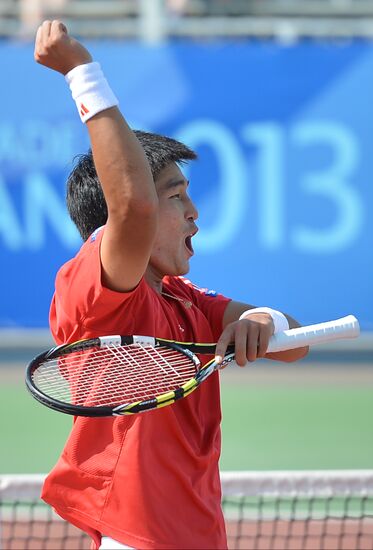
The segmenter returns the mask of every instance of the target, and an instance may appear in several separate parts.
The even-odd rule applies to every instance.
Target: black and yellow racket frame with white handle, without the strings
[[[359,322],[353,315],[348,315],[342,319],[319,323],[306,327],[290,329],[272,336],[267,353],[278,352],[286,349],[304,345],[314,345],[316,343],[328,342],[340,338],[356,338],[359,335]],[[72,405],[58,401],[42,392],[33,382],[32,374],[38,366],[48,359],[63,357],[71,352],[84,351],[90,347],[111,347],[116,345],[141,344],[154,348],[165,346],[187,356],[194,363],[196,374],[187,382],[175,390],[167,391],[158,396],[153,396],[146,400],[136,401],[134,403],[124,403],[121,405],[96,407],[85,407],[81,405]],[[192,342],[175,342],[162,338],[153,338],[149,336],[103,336],[99,338],[89,338],[80,340],[72,344],[63,344],[54,347],[47,352],[37,355],[26,369],[26,386],[33,397],[43,405],[75,416],[89,417],[108,417],[137,414],[152,409],[157,409],[170,405],[179,399],[186,397],[194,391],[208,376],[223,365],[234,360],[234,345],[229,345],[222,363],[216,363],[214,359],[208,361],[201,367],[201,362],[196,354],[215,355],[216,344],[196,344]]]

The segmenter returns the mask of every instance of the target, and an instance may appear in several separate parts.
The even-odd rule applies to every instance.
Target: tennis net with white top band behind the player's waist
[[[85,549],[39,500],[43,475],[0,476],[1,548]],[[229,548],[373,549],[373,470],[223,472]]]

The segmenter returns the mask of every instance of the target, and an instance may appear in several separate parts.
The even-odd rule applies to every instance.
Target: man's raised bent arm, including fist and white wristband
[[[84,93],[93,98],[91,115],[92,107],[84,101],[78,108],[87,121],[108,208],[101,243],[103,282],[113,290],[131,290],[146,270],[157,229],[158,198],[145,153],[116,106],[99,65],[92,63],[90,53],[60,21],[44,21],[39,27],[35,60],[63,74],[74,98],[84,98]]]

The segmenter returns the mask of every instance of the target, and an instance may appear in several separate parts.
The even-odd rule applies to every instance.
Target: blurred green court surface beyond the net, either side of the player
[[[246,370],[225,369],[221,377],[222,469],[372,468],[369,365],[262,362]],[[0,472],[48,471],[71,417],[34,401],[19,367],[2,366],[0,379]]]

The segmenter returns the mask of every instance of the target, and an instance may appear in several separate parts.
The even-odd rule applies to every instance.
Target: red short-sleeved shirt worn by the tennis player
[[[95,232],[59,271],[50,311],[57,343],[109,334],[216,341],[228,299],[165,277],[159,295],[144,279],[128,293],[101,284]],[[206,359],[205,359],[206,360]],[[218,471],[218,373],[190,396],[142,415],[76,418],[42,497],[88,532],[135,548],[226,548]]]

